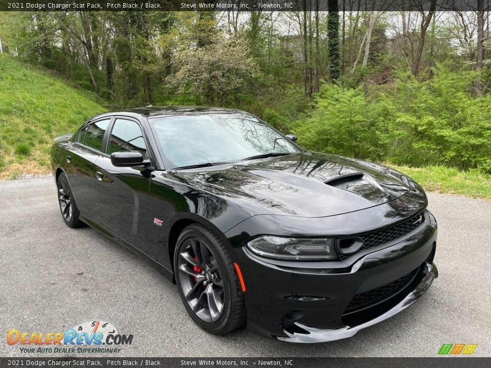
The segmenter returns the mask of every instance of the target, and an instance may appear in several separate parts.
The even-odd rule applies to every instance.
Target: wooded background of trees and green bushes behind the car
[[[491,172],[487,2],[465,12],[436,12],[434,0],[411,12],[302,4],[309,11],[3,12],[0,38],[4,53],[107,109],[235,107],[307,149]]]

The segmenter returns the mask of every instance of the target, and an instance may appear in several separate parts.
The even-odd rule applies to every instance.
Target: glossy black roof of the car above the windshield
[[[130,109],[107,111],[97,115],[94,118],[98,118],[105,115],[114,115],[118,113],[136,113],[144,116],[145,118],[157,118],[165,116],[180,116],[180,115],[200,115],[200,114],[216,114],[216,113],[247,113],[245,111],[223,108],[223,107],[206,107],[206,106],[145,106],[134,107]],[[94,120],[92,118],[91,120]]]

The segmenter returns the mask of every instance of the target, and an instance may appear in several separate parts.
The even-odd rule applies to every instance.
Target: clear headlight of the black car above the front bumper
[[[247,247],[261,257],[281,260],[337,259],[332,239],[295,239],[262,236],[248,242]]]

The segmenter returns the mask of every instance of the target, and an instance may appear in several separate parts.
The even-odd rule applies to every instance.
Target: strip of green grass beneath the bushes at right
[[[491,175],[478,170],[460,171],[445,166],[387,166],[410,176],[426,191],[491,199]]]

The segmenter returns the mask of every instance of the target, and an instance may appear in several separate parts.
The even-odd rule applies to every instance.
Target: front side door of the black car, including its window
[[[149,180],[152,170],[144,166],[116,167],[110,154],[139,151],[149,158],[147,142],[137,120],[116,117],[108,132],[105,153],[97,160],[96,192],[102,225],[109,231],[153,257],[149,218]]]

